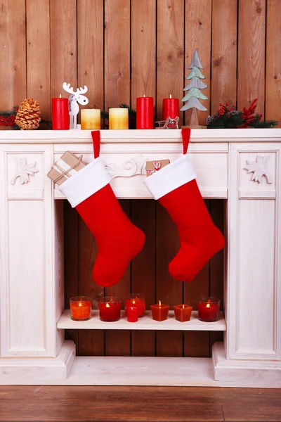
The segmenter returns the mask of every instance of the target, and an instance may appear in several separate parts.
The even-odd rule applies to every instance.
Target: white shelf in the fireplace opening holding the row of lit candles
[[[65,310],[60,316],[57,328],[80,329],[80,330],[171,330],[171,331],[226,331],[226,321],[221,312],[216,322],[202,322],[197,318],[197,311],[192,312],[190,321],[176,321],[174,312],[169,311],[169,318],[166,321],[158,322],[151,318],[151,312],[147,311],[143,318],[137,323],[128,322],[125,311],[121,312],[121,319],[115,322],[103,322],[98,317],[98,311],[92,311],[92,318],[89,321],[72,321],[70,311]]]

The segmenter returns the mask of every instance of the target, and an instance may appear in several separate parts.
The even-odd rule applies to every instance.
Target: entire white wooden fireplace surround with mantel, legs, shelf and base
[[[101,131],[118,198],[151,198],[145,161],[182,154],[181,131]],[[65,151],[93,160],[90,131],[0,132],[0,384],[281,387],[281,129],[194,129],[204,198],[226,200],[224,316],[71,321],[64,309],[63,194],[46,176]],[[136,328],[135,328],[136,327]],[[65,328],[220,330],[212,358],[75,357]]]

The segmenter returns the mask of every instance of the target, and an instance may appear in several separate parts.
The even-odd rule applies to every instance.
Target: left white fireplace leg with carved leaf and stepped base
[[[56,328],[64,308],[63,202],[55,203],[46,177],[53,147],[0,148],[1,373],[17,365],[50,368],[53,362],[57,376],[65,376],[74,360],[74,345],[65,343],[59,354],[64,343],[63,330]],[[19,359],[11,364],[11,357]],[[47,364],[39,357],[51,359]]]

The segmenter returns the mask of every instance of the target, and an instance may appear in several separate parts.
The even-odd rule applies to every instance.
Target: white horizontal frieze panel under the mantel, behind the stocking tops
[[[177,146],[178,147],[178,146]],[[192,150],[196,151],[195,146]],[[116,148],[116,147],[115,147]],[[126,145],[128,149],[128,145]],[[182,156],[182,147],[180,151],[159,151],[155,152],[156,146],[143,144],[138,145],[136,153],[110,153],[105,151],[101,158],[108,165],[108,171],[115,179],[111,186],[115,191],[117,198],[152,198],[150,192],[143,184],[145,176],[145,160],[164,160],[169,158],[172,162]],[[191,148],[190,148],[191,149]],[[202,151],[202,145],[199,146]],[[228,197],[228,154],[218,152],[217,147],[212,145],[205,146],[205,150],[210,152],[191,152],[190,160],[197,174],[197,183],[204,198],[227,198]],[[213,151],[214,150],[214,151]],[[204,151],[204,150],[203,150]],[[73,151],[77,155],[83,154],[84,162],[93,160],[92,153],[83,153],[81,150]],[[60,158],[60,154],[55,154],[55,161]],[[55,191],[55,198],[63,198],[59,191]]]

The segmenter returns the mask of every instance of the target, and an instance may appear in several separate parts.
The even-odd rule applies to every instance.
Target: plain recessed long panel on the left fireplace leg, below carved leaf
[[[46,349],[44,203],[9,201],[8,214],[9,352],[36,354]]]

